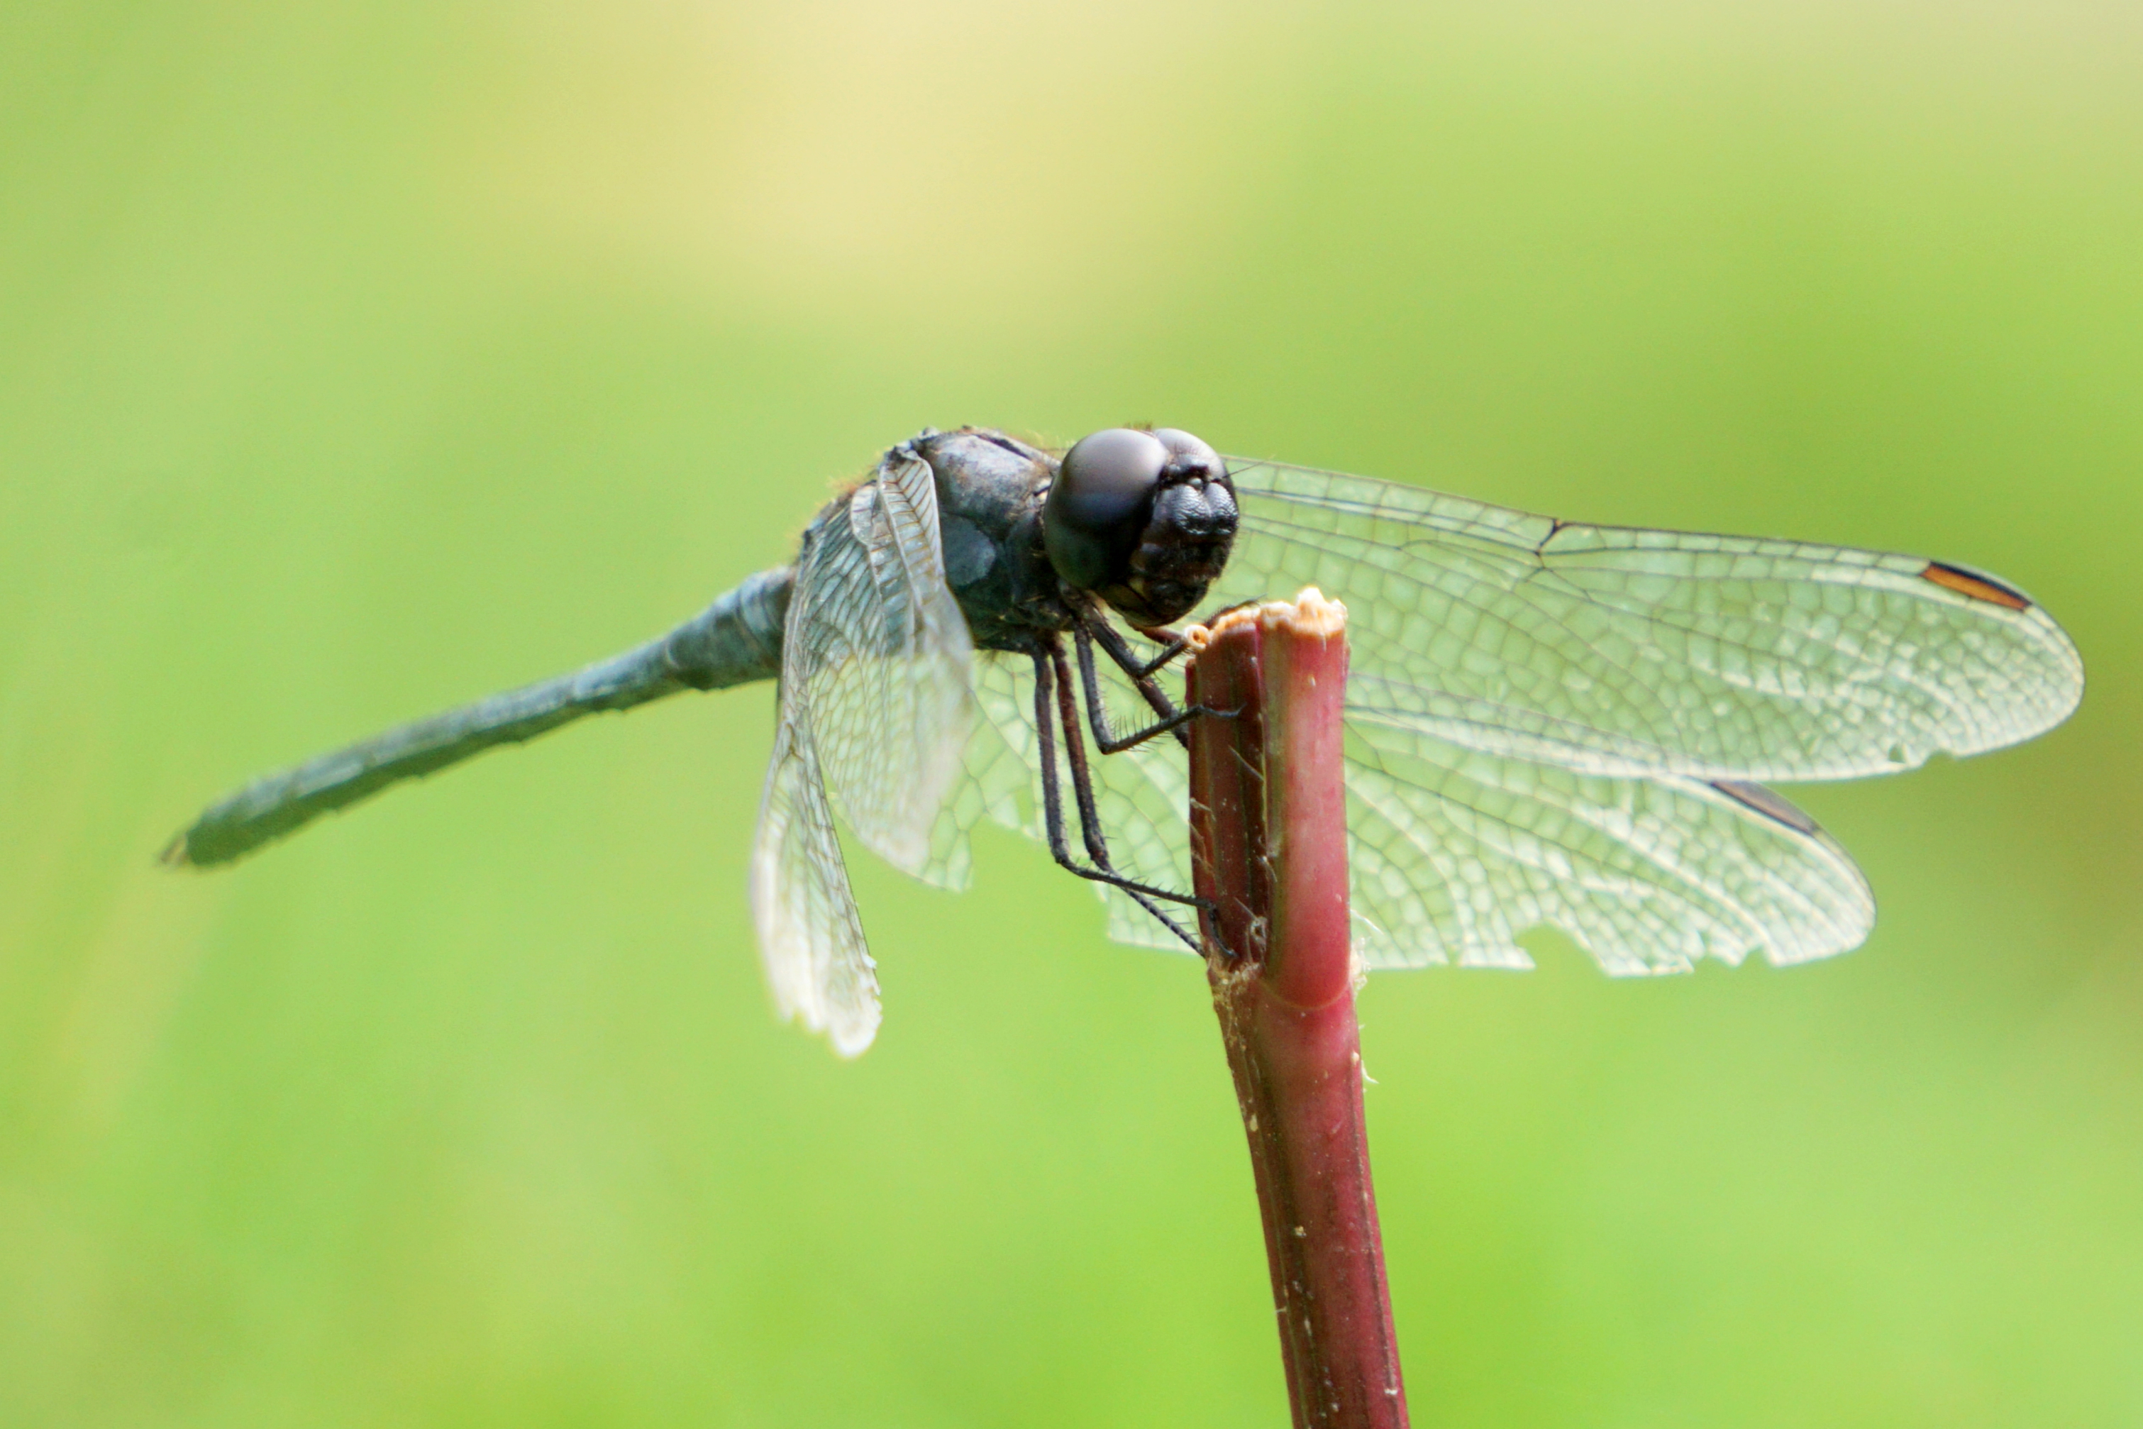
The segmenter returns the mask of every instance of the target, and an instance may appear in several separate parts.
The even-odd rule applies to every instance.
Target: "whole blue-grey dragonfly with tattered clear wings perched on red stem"
[[[1230,711],[1183,703],[1179,621],[1303,585],[1350,611],[1363,968],[1526,968],[1534,928],[1609,975],[1847,951],[1867,878],[1766,784],[1980,754],[2083,696],[2053,617],[1969,566],[1558,521],[1174,428],[1067,450],[926,428],[789,566],[621,656],[255,780],[165,859],[229,863],[493,746],[776,679],[759,949],[778,1011],[853,1056],[881,1009],[836,816],[949,889],[1003,825],[1093,883],[1110,938],[1198,951],[1183,743]]]

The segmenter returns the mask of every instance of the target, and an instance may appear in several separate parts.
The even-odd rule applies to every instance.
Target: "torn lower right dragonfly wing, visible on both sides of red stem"
[[[1041,840],[1026,660],[981,653],[975,690],[986,720],[969,788],[999,797],[962,808]],[[1144,709],[1121,675],[1104,677],[1104,698],[1119,728]],[[1875,917],[1845,851],[1755,784],[1588,776],[1361,711],[1348,718],[1346,761],[1354,947],[1369,968],[1530,966],[1515,938],[1539,926],[1616,975],[1751,951],[1787,964],[1856,947]],[[1153,739],[1093,769],[1119,866],[1187,889],[1181,746]],[[1112,941],[1183,951],[1129,898],[1095,889]]]

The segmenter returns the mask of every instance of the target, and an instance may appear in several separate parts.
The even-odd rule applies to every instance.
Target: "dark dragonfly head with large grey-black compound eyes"
[[[1189,615],[1228,563],[1234,484],[1187,431],[1110,426],[1082,437],[1041,503],[1056,578],[1093,591],[1132,626]]]

